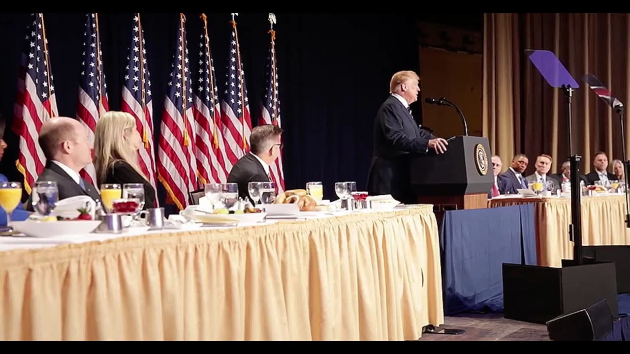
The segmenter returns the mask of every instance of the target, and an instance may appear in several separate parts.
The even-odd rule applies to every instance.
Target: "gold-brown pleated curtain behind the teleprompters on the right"
[[[539,154],[559,170],[569,156],[568,100],[551,88],[525,50],[550,50],[580,88],[573,95],[573,153],[581,172],[592,169],[597,151],[622,158],[619,116],[588,88],[594,74],[622,103],[630,104],[630,14],[484,14],[483,134],[507,169],[514,154],[529,157],[533,173]],[[630,134],[624,118],[626,135]],[[626,139],[626,152],[630,143]]]

